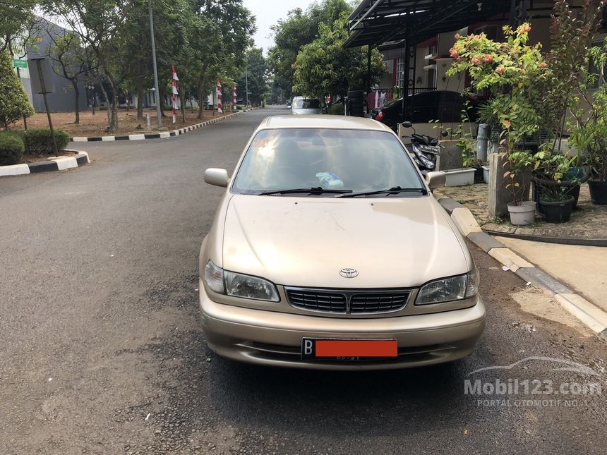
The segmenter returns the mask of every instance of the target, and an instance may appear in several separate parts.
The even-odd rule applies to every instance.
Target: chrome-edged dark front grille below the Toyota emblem
[[[285,287],[295,308],[325,313],[389,313],[407,305],[409,291],[349,291]]]

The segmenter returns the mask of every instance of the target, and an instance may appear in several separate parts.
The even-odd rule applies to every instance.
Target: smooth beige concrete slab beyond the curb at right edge
[[[495,238],[607,312],[607,248]]]

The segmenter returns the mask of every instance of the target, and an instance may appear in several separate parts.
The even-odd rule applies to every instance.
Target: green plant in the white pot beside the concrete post
[[[505,171],[504,178],[508,180],[506,188],[510,190],[512,202],[509,202],[508,213],[510,214],[510,223],[517,226],[526,226],[535,221],[536,202],[524,200],[527,195],[524,192],[524,174],[529,173],[529,169],[534,164],[534,158],[527,150],[518,150],[508,154],[507,166],[510,168]],[[527,190],[529,188],[527,187]]]

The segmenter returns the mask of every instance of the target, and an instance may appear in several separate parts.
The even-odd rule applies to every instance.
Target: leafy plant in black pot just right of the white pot
[[[575,198],[568,193],[569,187],[563,186],[562,181],[577,157],[554,153],[550,144],[543,144],[534,159],[535,175],[531,179],[540,189],[539,211],[548,223],[568,222]],[[572,179],[572,183],[579,186],[579,180],[576,178]]]

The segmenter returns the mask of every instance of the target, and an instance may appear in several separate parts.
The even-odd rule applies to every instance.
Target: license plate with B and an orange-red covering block
[[[395,339],[301,339],[301,359],[359,360],[398,356]]]

